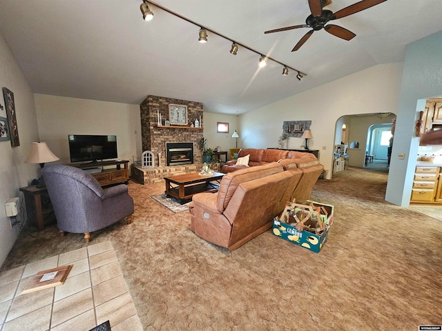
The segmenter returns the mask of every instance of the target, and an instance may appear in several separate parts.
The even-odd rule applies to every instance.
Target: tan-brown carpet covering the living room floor
[[[441,325],[442,222],[384,201],[387,172],[349,168],[312,199],[335,206],[320,253],[271,230],[229,253],[196,237],[189,212],[150,198],[164,183],[129,183],[133,223],[111,241],[144,330],[418,330]],[[34,233],[35,234],[35,233]],[[3,269],[80,248],[55,226],[23,232]]]

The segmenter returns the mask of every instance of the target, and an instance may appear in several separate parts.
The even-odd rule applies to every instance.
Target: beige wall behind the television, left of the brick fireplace
[[[70,163],[68,134],[115,134],[119,159],[141,156],[139,105],[35,94],[35,108],[40,139],[57,163]]]

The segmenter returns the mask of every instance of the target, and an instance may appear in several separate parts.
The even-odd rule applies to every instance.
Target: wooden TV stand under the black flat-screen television
[[[92,163],[73,163],[73,167],[77,167],[83,170],[102,168],[100,172],[92,172],[90,174],[97,179],[99,185],[107,186],[118,183],[128,183],[129,180],[129,161],[127,160],[112,160],[112,161],[101,161]],[[112,168],[104,168],[105,166],[112,166]],[[122,167],[123,165],[123,167]]]

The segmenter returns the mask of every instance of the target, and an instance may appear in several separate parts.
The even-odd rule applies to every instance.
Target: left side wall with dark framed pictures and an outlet
[[[12,197],[24,201],[19,188],[28,186],[32,178],[38,176],[39,165],[26,164],[30,143],[38,140],[37,117],[35,114],[34,94],[28,85],[21,68],[12,56],[12,52],[3,35],[0,34],[0,86],[14,93],[17,126],[20,146],[11,147],[10,141],[0,141],[0,264],[5,261],[19,234],[19,225],[10,228],[10,219],[6,217],[3,204]],[[0,117],[6,117],[3,93],[0,92]],[[24,207],[23,207],[24,208]],[[23,221],[23,214],[18,219]]]

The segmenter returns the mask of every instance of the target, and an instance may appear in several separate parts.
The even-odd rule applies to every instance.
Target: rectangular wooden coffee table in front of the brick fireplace
[[[166,181],[166,194],[185,203],[192,199],[194,194],[201,192],[218,192],[220,180],[224,174],[213,172],[213,174],[175,174],[164,177]],[[173,185],[175,184],[175,185]]]

